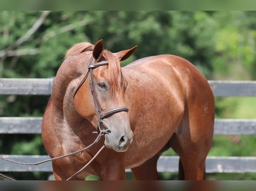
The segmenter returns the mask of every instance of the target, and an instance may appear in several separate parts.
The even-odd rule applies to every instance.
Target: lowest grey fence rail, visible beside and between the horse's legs
[[[3,155],[6,158],[35,163],[49,159],[47,155]],[[160,156],[157,163],[158,172],[178,172],[178,156]],[[22,165],[0,159],[0,172],[52,172],[51,162],[39,165]],[[130,172],[127,169],[126,172]],[[240,173],[256,172],[256,157],[220,157],[208,156],[206,159],[207,173]]]

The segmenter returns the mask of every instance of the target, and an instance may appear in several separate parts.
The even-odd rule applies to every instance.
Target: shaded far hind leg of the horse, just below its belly
[[[157,160],[159,154],[156,154],[142,165],[132,168],[132,174],[135,180],[160,180],[157,172]]]

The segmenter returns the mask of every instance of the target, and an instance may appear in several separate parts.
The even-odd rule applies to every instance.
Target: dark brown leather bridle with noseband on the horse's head
[[[117,107],[115,109],[111,109],[111,110],[106,111],[106,112],[103,113],[103,111],[100,107],[100,104],[99,104],[99,100],[98,100],[97,95],[96,95],[96,91],[95,91],[95,84],[94,84],[94,79],[93,79],[93,69],[97,68],[99,66],[105,66],[105,65],[108,65],[108,61],[93,64],[93,57],[91,57],[90,64],[88,66],[88,71],[87,71],[84,79],[80,83],[80,85],[77,87],[77,89],[75,91],[75,94],[73,96],[73,99],[74,99],[76,93],[81,88],[81,86],[84,84],[84,82],[86,81],[86,79],[87,79],[87,77],[90,73],[90,75],[91,75],[90,87],[91,87],[91,92],[92,92],[92,95],[93,95],[94,105],[95,105],[97,116],[98,116],[98,123],[97,123],[97,131],[98,132],[103,130],[103,129],[100,128],[100,124],[103,124],[106,127],[106,129],[104,130],[105,132],[110,130],[109,125],[105,121],[103,121],[104,118],[106,118],[107,116],[112,115],[114,113],[121,112],[121,111],[125,111],[125,112],[129,111],[129,109],[127,107]]]

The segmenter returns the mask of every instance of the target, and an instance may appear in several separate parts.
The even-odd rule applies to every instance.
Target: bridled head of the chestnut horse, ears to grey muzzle
[[[104,50],[103,40],[92,50],[88,71],[74,95],[74,104],[80,115],[98,130],[109,129],[105,145],[115,151],[126,151],[133,140],[124,93],[127,82],[122,76],[120,61],[129,58],[136,47],[111,53]]]

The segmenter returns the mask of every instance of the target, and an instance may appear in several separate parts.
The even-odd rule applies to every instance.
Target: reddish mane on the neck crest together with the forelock
[[[69,56],[79,55],[86,51],[92,51],[93,48],[94,48],[94,45],[89,42],[82,42],[82,43],[75,44],[67,51],[64,59],[68,58]],[[111,87],[112,97],[114,97],[115,92],[119,92],[122,85],[120,61],[115,56],[115,54],[107,50],[104,50],[103,57],[106,58],[109,62],[108,81]]]

